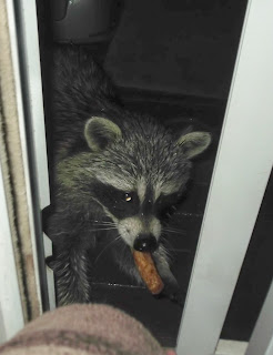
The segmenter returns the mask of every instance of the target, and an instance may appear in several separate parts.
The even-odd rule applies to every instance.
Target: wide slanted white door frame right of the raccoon
[[[179,355],[214,354],[271,173],[272,33],[273,1],[250,0],[183,311]]]

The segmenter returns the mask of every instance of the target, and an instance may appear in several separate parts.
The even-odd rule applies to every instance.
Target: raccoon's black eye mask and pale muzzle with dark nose
[[[179,199],[179,191],[160,194],[151,185],[144,186],[143,180],[128,190],[114,187],[112,180],[95,184],[97,201],[105,214],[115,223],[119,235],[130,246],[140,252],[154,252],[162,233],[162,221],[170,206]]]

